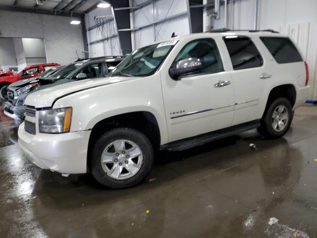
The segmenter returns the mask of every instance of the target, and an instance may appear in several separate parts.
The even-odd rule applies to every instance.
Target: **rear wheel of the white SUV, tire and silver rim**
[[[277,98],[268,107],[259,133],[265,138],[279,138],[286,134],[293,119],[292,105],[286,98]]]

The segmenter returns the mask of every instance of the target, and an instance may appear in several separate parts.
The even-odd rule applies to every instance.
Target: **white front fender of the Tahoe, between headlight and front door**
[[[161,143],[167,143],[167,126],[158,73],[66,95],[53,105],[53,108],[63,107],[73,108],[71,131],[89,130],[103,119],[125,113],[149,112],[157,119]]]

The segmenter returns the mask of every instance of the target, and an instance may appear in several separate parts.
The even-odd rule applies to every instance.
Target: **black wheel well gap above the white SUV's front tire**
[[[87,160],[91,158],[91,151],[96,140],[106,131],[117,127],[129,127],[142,132],[151,141],[153,149],[159,149],[159,124],[155,116],[149,112],[126,113],[103,119],[94,125],[89,138]]]

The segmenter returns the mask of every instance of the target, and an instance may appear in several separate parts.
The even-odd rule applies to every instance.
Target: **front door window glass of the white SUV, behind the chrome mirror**
[[[202,68],[191,74],[217,73],[223,71],[222,61],[216,43],[212,39],[199,39],[188,43],[178,54],[172,64],[176,67],[179,60],[197,58]]]

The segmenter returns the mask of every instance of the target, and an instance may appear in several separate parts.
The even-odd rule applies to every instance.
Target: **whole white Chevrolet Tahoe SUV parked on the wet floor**
[[[130,187],[150,173],[155,150],[254,128],[283,136],[308,94],[307,64],[289,38],[191,34],[134,51],[107,78],[30,94],[19,145],[43,169]]]

